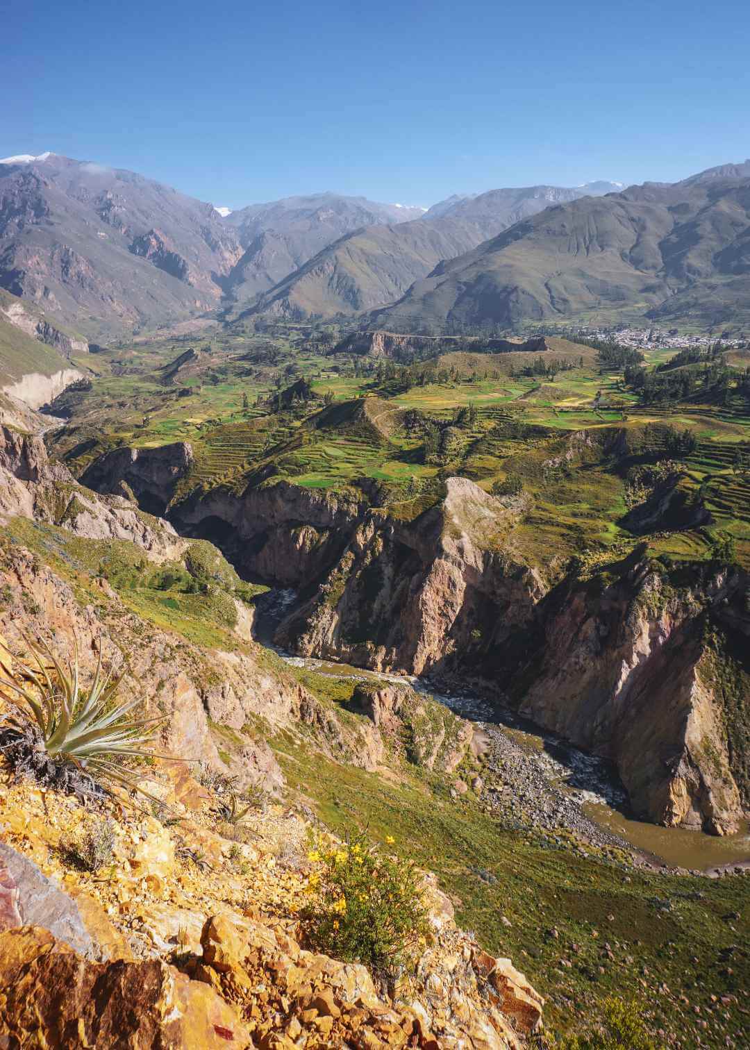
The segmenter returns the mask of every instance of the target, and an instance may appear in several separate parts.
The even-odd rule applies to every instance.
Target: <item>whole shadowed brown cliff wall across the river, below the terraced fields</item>
[[[675,499],[675,484],[658,489],[657,509],[666,500],[674,512],[701,513]],[[547,592],[514,553],[522,510],[453,478],[442,501],[402,522],[283,482],[209,494],[180,508],[179,528],[229,526],[226,543],[246,570],[299,591],[276,630],[280,646],[378,671],[468,675],[610,758],[640,815],[735,830],[750,808],[747,654],[739,647],[738,698],[725,697],[707,669],[712,631],[723,644],[748,630],[745,578],[688,566],[672,580],[633,555]],[[652,511],[649,503],[639,513]]]

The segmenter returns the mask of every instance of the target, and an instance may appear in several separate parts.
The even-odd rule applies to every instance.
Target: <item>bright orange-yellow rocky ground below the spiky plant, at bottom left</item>
[[[0,788],[9,1045],[504,1050],[539,1029],[541,998],[456,927],[430,879],[429,934],[388,992],[363,966],[305,947],[306,819],[272,806],[256,815],[252,844],[238,842],[216,833],[216,799],[184,763],[143,788],[169,821],[109,805],[107,878],[61,863],[101,817],[27,784]]]

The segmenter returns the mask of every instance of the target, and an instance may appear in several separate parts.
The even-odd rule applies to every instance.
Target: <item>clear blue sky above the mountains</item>
[[[232,208],[675,181],[750,156],[749,39],[747,0],[26,0],[3,15],[0,156]]]

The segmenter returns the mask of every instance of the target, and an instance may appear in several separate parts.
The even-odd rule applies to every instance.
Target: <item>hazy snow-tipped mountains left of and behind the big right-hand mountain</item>
[[[0,287],[95,339],[220,309],[351,314],[400,298],[519,215],[585,192],[500,190],[426,213],[327,192],[224,215],[130,171],[20,154],[0,162]]]

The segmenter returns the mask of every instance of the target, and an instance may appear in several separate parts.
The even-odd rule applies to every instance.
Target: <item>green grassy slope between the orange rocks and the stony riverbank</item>
[[[548,1026],[585,1030],[586,1018],[616,993],[639,1004],[649,1027],[668,1033],[672,1045],[724,1046],[726,1034],[742,1045],[749,878],[626,873],[616,858],[586,856],[569,843],[549,848],[503,831],[471,793],[452,800],[440,777],[339,765],[291,735],[273,746],[290,785],[327,824],[367,826],[380,841],[392,835],[399,853],[438,875],[459,923],[489,951],[509,956],[547,998]],[[726,918],[737,911],[741,920]],[[739,947],[728,952],[731,945]],[[718,1002],[737,992],[738,1002]]]

